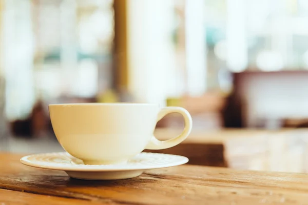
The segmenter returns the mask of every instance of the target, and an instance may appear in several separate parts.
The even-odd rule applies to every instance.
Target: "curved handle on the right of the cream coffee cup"
[[[160,110],[157,121],[161,120],[164,116],[166,116],[169,113],[179,113],[184,117],[185,128],[183,132],[179,136],[165,141],[158,140],[155,136],[152,136],[149,144],[146,146],[145,149],[149,150],[167,149],[180,144],[182,141],[184,141],[184,139],[188,137],[192,128],[192,119],[189,112],[184,108],[180,107],[165,107]]]

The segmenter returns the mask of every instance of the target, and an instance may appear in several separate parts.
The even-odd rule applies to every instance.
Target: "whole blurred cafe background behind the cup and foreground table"
[[[308,1],[1,0],[0,150],[63,150],[48,104],[180,106],[162,153],[308,172]],[[183,119],[168,115],[156,135]]]

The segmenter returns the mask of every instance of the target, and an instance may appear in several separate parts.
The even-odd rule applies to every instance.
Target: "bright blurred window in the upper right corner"
[[[209,75],[308,69],[308,2],[205,0]],[[215,72],[216,71],[216,72]]]

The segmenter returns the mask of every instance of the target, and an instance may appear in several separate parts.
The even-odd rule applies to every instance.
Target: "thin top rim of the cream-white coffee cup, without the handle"
[[[158,103],[60,103],[49,104],[48,107],[54,106],[158,106]]]

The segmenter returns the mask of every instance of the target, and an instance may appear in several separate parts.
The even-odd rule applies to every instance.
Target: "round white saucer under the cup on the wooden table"
[[[67,152],[33,154],[21,158],[27,166],[62,170],[72,178],[88,180],[127,179],[137,177],[145,170],[183,165],[187,161],[187,157],[179,155],[146,152],[119,165],[84,165],[82,160]]]

